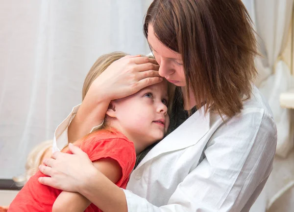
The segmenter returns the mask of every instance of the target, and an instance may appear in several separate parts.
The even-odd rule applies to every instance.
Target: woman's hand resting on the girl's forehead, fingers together
[[[97,100],[121,99],[142,88],[162,82],[159,65],[148,57],[125,56],[112,63],[90,86],[86,98]],[[103,97],[99,94],[103,94]],[[85,98],[85,99],[86,99]]]

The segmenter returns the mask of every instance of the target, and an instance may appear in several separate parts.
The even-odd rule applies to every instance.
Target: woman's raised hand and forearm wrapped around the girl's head
[[[76,141],[100,125],[111,100],[132,95],[159,83],[159,65],[148,57],[125,56],[109,65],[90,86],[69,126],[68,140]]]

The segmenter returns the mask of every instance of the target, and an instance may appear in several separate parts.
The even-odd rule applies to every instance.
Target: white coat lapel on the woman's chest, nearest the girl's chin
[[[183,124],[152,148],[136,169],[160,154],[195,145],[210,129],[210,114],[208,112],[204,115],[202,109],[203,107],[197,110]]]

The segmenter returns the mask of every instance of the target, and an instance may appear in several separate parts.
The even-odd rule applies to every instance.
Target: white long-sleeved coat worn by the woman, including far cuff
[[[262,191],[276,148],[269,105],[256,87],[231,119],[196,111],[152,148],[124,190],[129,212],[248,212]],[[67,126],[55,146],[67,144]]]

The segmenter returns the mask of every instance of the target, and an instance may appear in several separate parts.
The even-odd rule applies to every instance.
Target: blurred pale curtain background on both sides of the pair
[[[84,78],[108,52],[147,54],[152,0],[0,0],[0,179],[25,172],[29,151],[53,139],[81,102]],[[294,209],[293,0],[243,0],[258,34],[255,85],[278,128],[274,170],[252,212]]]

